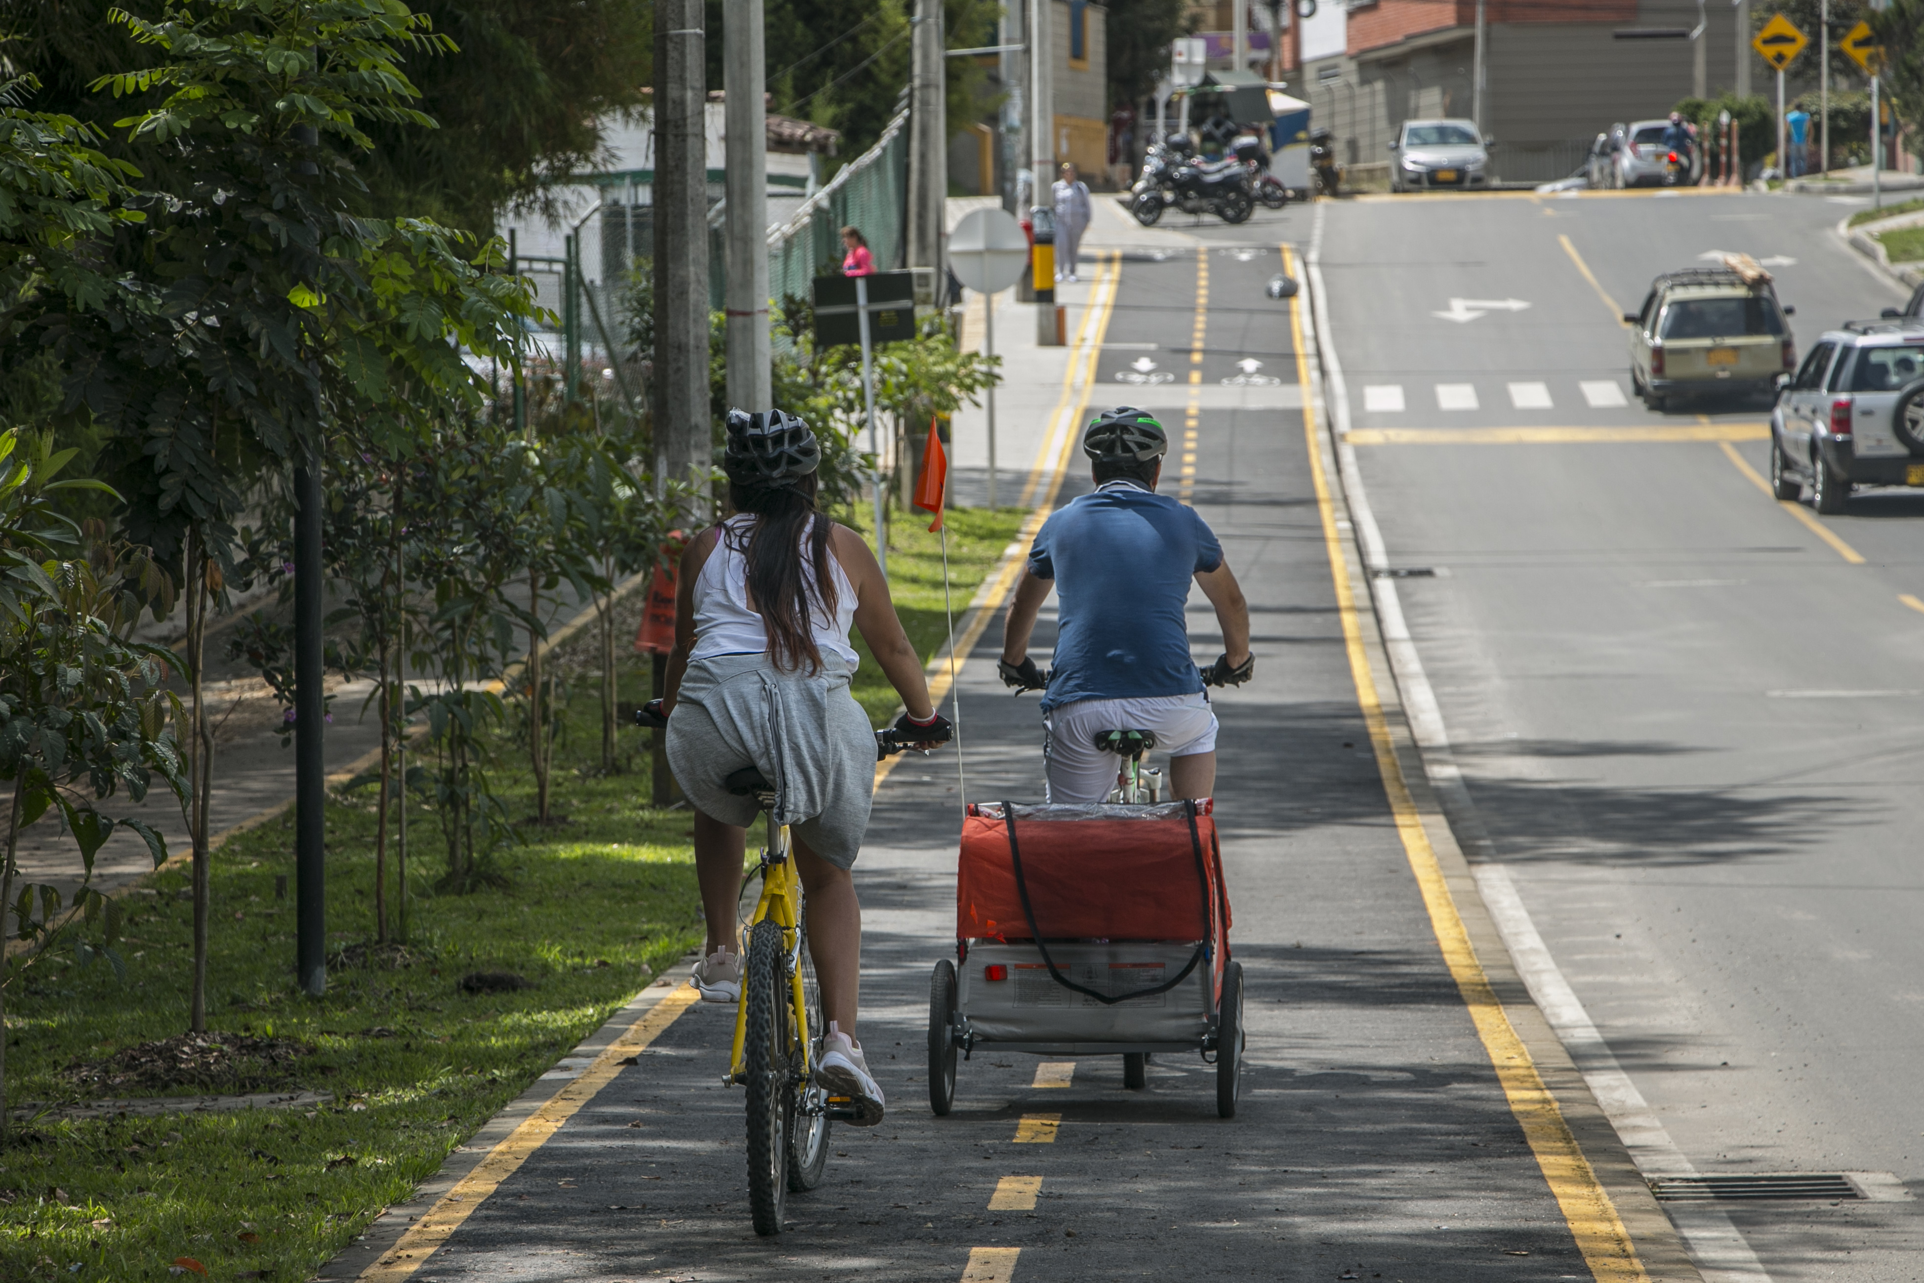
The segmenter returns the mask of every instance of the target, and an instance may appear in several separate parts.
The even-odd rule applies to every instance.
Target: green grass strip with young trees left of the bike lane
[[[956,612],[1020,523],[1016,510],[950,514]],[[891,542],[897,606],[933,658],[947,637],[939,537],[899,523]],[[591,637],[577,639],[583,652]],[[645,666],[623,664],[620,698],[646,698],[646,681]],[[631,731],[621,733],[623,769],[600,771],[596,689],[593,679],[570,689],[554,762],[562,819],[518,825],[521,843],[494,854],[504,885],[435,894],[437,816],[410,810],[408,931],[396,946],[369,946],[373,791],[331,798],[323,998],[292,981],[294,902],[277,893],[281,879],[294,881],[291,818],[237,835],[212,858],[208,1027],[217,1044],[179,1041],[192,939],[185,873],[156,875],[152,894],[127,900],[125,979],[62,960],[21,973],[6,1023],[15,1121],[0,1152],[0,1277],[310,1277],[696,946],[689,812],[646,804],[645,744]],[[897,704],[866,652],[856,698],[877,725]],[[496,748],[496,792],[510,816],[529,816],[525,750],[508,737]],[[81,1100],[294,1091],[331,1098],[71,1114]]]

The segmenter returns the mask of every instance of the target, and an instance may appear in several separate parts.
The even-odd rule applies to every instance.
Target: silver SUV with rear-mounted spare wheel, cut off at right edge
[[[1924,487],[1924,319],[1849,321],[1818,339],[1770,415],[1770,485],[1843,512],[1853,485]]]

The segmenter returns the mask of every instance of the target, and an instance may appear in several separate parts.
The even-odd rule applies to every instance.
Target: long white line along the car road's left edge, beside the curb
[[[1335,342],[1329,337],[1329,300],[1324,292],[1322,279],[1322,227],[1326,208],[1328,206],[1324,204],[1316,206],[1310,233],[1310,252],[1304,256],[1304,275],[1308,277],[1310,289],[1310,314],[1316,321],[1316,348],[1328,373],[1326,396],[1337,425],[1337,467],[1343,479],[1345,496],[1349,498],[1356,542],[1362,544],[1362,560],[1372,571],[1376,571],[1385,567],[1389,560],[1383,550],[1383,533],[1376,525],[1376,514],[1370,510],[1370,496],[1362,487],[1356,448],[1345,440],[1349,433],[1349,392],[1343,385],[1343,367],[1337,362]],[[1468,848],[1470,844],[1476,844],[1478,839],[1481,839],[1481,844],[1487,844],[1487,837],[1481,833],[1481,821],[1476,814],[1476,804],[1472,802],[1468,787],[1462,781],[1456,756],[1451,752],[1449,733],[1443,727],[1443,710],[1437,704],[1435,691],[1430,687],[1430,677],[1424,673],[1422,658],[1416,654],[1416,642],[1410,637],[1408,621],[1403,617],[1403,598],[1397,594],[1397,583],[1391,577],[1372,573],[1370,592],[1376,600],[1378,627],[1383,631],[1383,648],[1389,652],[1389,666],[1395,671],[1397,691],[1403,694],[1405,716],[1410,721],[1410,735],[1416,739],[1416,746],[1422,752],[1426,773],[1437,792],[1449,798],[1453,812],[1451,825],[1455,827],[1460,816],[1464,827],[1472,829],[1472,833],[1464,833],[1464,837],[1470,839],[1464,846]],[[1570,1060],[1576,1062],[1576,1068],[1589,1085],[1591,1094],[1597,1096],[1599,1108],[1603,1108],[1610,1125],[1616,1127],[1616,1135],[1622,1139],[1624,1148],[1630,1150],[1637,1170],[1643,1175],[1693,1173],[1695,1170],[1689,1160],[1682,1150],[1678,1150],[1676,1143],[1670,1141],[1670,1133],[1651,1112],[1651,1106],[1643,1100],[1637,1085],[1628,1073],[1624,1073],[1624,1068],[1616,1062],[1614,1052],[1610,1052],[1610,1044],[1597,1031],[1597,1025],[1589,1019],[1589,1012],[1583,1010],[1576,991],[1570,989],[1570,983],[1557,968],[1557,960],[1543,944],[1543,937],[1530,919],[1530,912],[1516,896],[1516,887],[1510,883],[1508,869],[1501,864],[1472,864],[1470,868],[1476,871],[1478,889],[1483,893],[1483,900],[1499,935],[1503,935],[1505,948],[1508,948],[1518,973],[1530,987],[1530,996],[1537,1002],[1551,1029],[1555,1029],[1557,1037],[1570,1050]],[[1485,887],[1485,869],[1491,875],[1501,877],[1501,883]],[[1499,902],[1505,900],[1505,887],[1508,887],[1508,900],[1506,906],[1499,910]],[[1526,958],[1530,960],[1528,966]],[[1645,1166],[1645,1160],[1649,1160],[1651,1166]],[[1664,1204],[1664,1212],[1670,1216],[1670,1223],[1676,1225],[1678,1233],[1684,1237],[1684,1243],[1697,1260],[1707,1283],[1772,1283],[1770,1275],[1757,1260],[1757,1252],[1753,1252],[1751,1245],[1743,1241],[1743,1235],[1722,1208],[1714,1204],[1691,1206],[1672,1202]]]

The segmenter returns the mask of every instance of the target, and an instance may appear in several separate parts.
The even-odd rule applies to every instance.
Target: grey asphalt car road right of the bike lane
[[[1745,250],[1795,304],[1803,352],[1901,298],[1832,235],[1847,212],[1353,202],[1326,210],[1320,254],[1389,562],[1433,571],[1397,587],[1489,837],[1476,854],[1684,1160],[1916,1191],[1924,614],[1901,594],[1924,592],[1924,496],[1787,512],[1751,475],[1768,410],[1643,410],[1616,319],[1655,273]],[[1478,440],[1653,425],[1737,440]],[[1780,1281],[1916,1279],[1903,1187],[1730,1218]]]

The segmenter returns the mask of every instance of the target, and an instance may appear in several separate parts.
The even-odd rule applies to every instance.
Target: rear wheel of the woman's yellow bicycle
[[[789,1135],[795,1127],[795,1037],[781,927],[754,923],[743,975],[748,1021],[743,1075],[748,1087],[748,1214],[754,1233],[779,1235],[789,1196]]]

